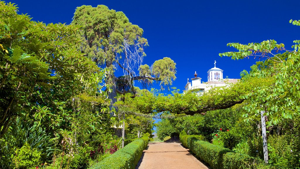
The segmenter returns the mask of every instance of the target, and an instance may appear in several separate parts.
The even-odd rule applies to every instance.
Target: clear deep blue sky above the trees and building
[[[7,1],[9,2],[9,1]],[[300,19],[300,1],[124,1],[124,0],[11,0],[19,13],[27,13],[35,21],[67,23],[72,21],[76,7],[106,5],[123,11],[130,22],[144,29],[149,41],[144,64],[170,57],[177,65],[173,86],[183,90],[187,78],[195,71],[207,81],[208,69],[216,66],[223,75],[240,78],[239,73],[258,59],[231,60],[218,54],[233,51],[229,42],[249,43],[274,39],[291,49],[292,41],[300,39],[300,27],[289,23]],[[137,85],[139,86],[139,85]]]

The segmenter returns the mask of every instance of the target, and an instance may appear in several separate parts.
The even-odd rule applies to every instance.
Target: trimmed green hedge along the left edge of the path
[[[148,145],[148,140],[148,135],[145,134],[89,169],[135,169],[143,150]]]

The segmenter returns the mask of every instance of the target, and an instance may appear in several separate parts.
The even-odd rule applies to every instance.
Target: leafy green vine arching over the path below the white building
[[[180,94],[179,90],[173,88],[172,94],[161,94],[158,90],[151,90],[140,97],[126,98],[128,106],[137,109],[141,113],[151,114],[153,112],[170,112],[171,114],[194,115],[232,107],[242,103],[246,98],[241,96],[248,94],[253,88],[262,85],[271,85],[273,79],[247,78],[229,86],[216,87],[201,96],[196,93]],[[248,97],[247,97],[248,98]]]

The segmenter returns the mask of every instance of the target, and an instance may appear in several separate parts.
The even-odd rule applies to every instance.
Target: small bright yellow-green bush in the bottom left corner
[[[24,144],[20,149],[16,149],[11,165],[14,168],[31,168],[41,163],[41,153],[37,149],[31,149],[28,144]]]

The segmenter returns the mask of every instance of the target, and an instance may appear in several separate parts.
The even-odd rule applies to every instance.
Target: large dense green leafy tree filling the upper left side
[[[28,15],[16,14],[16,5],[0,5],[4,9],[0,13],[0,44],[5,49],[0,51],[3,137],[18,117],[34,116],[40,108],[58,111],[58,100],[65,103],[82,90],[97,92],[104,73],[77,51],[78,26],[34,22]]]

